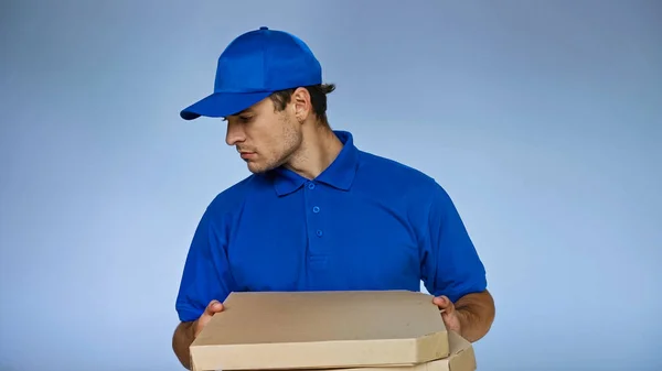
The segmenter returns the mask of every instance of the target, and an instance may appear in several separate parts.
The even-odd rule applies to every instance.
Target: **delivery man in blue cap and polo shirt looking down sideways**
[[[450,329],[470,341],[488,332],[485,271],[450,197],[331,130],[333,89],[301,40],[260,28],[226,47],[214,92],[181,112],[223,118],[253,173],[220,193],[195,230],[173,336],[184,367],[233,291],[419,291],[423,280]]]

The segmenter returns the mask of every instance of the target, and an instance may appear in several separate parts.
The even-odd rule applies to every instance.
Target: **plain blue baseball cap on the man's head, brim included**
[[[214,91],[180,112],[184,120],[238,113],[273,92],[322,84],[322,67],[299,37],[266,26],[246,32],[223,51]]]

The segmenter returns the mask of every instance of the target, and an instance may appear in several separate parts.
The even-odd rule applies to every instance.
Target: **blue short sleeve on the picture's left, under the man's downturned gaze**
[[[193,234],[175,304],[182,321],[197,319],[212,299],[223,302],[235,290],[222,217],[207,208]]]

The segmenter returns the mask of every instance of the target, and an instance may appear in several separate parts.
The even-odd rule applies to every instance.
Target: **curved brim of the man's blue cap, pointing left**
[[[180,112],[184,120],[204,117],[227,117],[238,113],[271,95],[270,91],[259,92],[214,92]]]

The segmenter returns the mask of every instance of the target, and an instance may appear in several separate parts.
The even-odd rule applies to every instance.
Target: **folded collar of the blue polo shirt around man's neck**
[[[333,133],[342,142],[342,150],[331,165],[314,182],[323,183],[341,190],[349,190],[356,174],[359,150],[354,146],[354,140],[350,132],[334,130]],[[274,171],[274,188],[278,196],[284,196],[299,189],[306,182],[308,179],[282,166]]]

